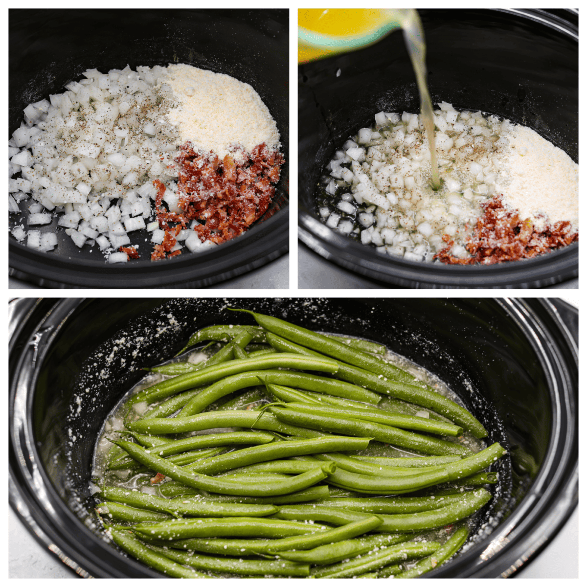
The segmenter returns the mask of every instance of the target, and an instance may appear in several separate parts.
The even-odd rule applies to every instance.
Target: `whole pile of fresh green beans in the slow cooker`
[[[198,330],[176,356],[207,343],[210,358],[147,368],[160,379],[117,409],[95,478],[107,536],[172,577],[408,577],[448,561],[505,450],[471,451],[483,425],[384,346],[247,312],[257,326]]]

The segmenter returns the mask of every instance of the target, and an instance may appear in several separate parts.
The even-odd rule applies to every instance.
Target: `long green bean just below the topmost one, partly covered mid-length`
[[[272,333],[267,334],[267,339],[271,346],[276,350],[282,352],[299,352],[304,356],[323,356],[322,352],[316,352],[307,349],[300,345],[295,345],[283,337],[276,336]],[[329,353],[326,353],[327,355]],[[372,357],[373,359],[374,357]],[[344,359],[341,359],[344,361]],[[377,359],[375,359],[377,360]],[[374,392],[382,393],[387,396],[397,397],[404,402],[418,404],[419,406],[427,407],[437,411],[439,414],[446,416],[456,424],[460,424],[465,430],[470,431],[477,438],[484,438],[487,436],[487,430],[481,423],[475,419],[473,414],[465,410],[463,407],[449,400],[448,398],[437,393],[430,386],[425,386],[423,383],[417,382],[414,384],[414,378],[409,375],[410,380],[396,381],[387,379],[386,377],[377,375],[377,373],[370,372],[366,368],[360,368],[354,364],[346,365],[346,363],[339,363],[339,370],[336,372],[336,377],[356,385],[366,387]]]

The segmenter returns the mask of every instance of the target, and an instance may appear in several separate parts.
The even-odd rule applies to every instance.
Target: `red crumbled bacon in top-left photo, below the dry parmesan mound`
[[[180,166],[178,207],[183,212],[177,214],[162,207],[166,187],[154,180],[159,226],[167,238],[170,222],[177,223],[176,236],[190,220],[198,220],[201,223],[194,230],[200,240],[220,244],[238,236],[265,214],[275,195],[273,184],[279,181],[284,158],[281,153],[269,151],[264,143],[255,147],[250,156],[233,152],[222,160],[214,153],[200,155],[191,143],[185,143],[175,161]],[[155,245],[151,260],[166,257],[168,249],[164,245],[165,241]]]

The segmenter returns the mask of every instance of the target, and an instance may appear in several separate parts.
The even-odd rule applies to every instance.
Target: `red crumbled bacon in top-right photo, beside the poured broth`
[[[502,261],[530,259],[548,251],[566,247],[579,240],[579,233],[571,222],[559,221],[554,226],[545,222],[541,231],[536,230],[530,218],[520,220],[518,211],[502,203],[501,195],[481,204],[484,214],[477,221],[473,237],[466,248],[471,257],[460,259],[450,254],[454,241],[443,236],[447,247],[435,255],[447,264],[492,265]]]

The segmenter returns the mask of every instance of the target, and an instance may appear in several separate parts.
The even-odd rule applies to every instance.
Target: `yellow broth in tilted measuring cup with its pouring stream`
[[[392,8],[301,8],[298,10],[298,25],[306,29],[299,32],[298,63],[319,59],[333,53],[359,49],[379,41],[396,28],[402,28],[406,48],[410,54],[416,83],[420,92],[421,114],[428,137],[431,185],[440,188],[440,176],[434,140],[434,115],[426,81],[426,42],[420,17],[415,9]],[[308,34],[329,35],[327,45],[323,39],[308,42]],[[304,36],[305,35],[305,36]]]

